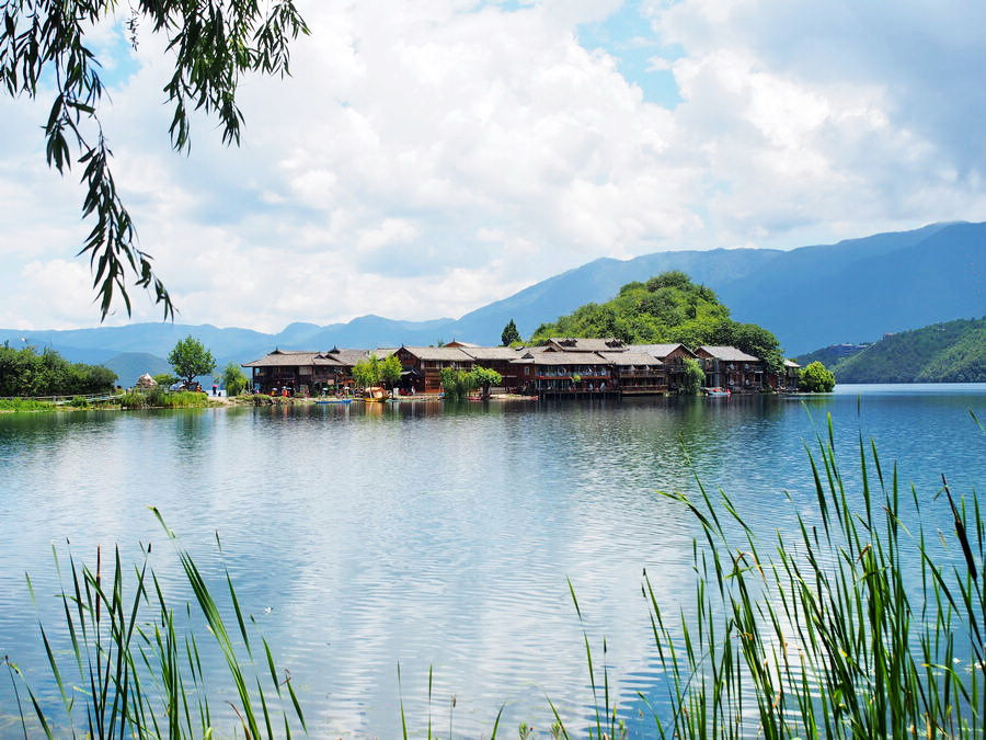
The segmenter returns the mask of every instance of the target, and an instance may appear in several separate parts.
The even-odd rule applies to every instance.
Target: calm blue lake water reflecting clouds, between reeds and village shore
[[[667,611],[693,601],[697,530],[655,491],[696,492],[697,474],[756,527],[784,528],[814,498],[803,443],[832,413],[848,478],[861,432],[924,501],[942,473],[967,493],[986,473],[986,435],[970,411],[986,423],[986,386],[840,386],[807,400],[2,414],[0,656],[50,699],[24,573],[57,637],[53,544],[67,553],[70,542],[94,565],[98,544],[118,544],[133,561],[139,543],[153,542],[159,577],[186,596],[156,505],[213,582],[229,567],[244,611],[291,671],[312,737],[398,737],[400,693],[422,735],[429,668],[443,733],[452,695],[455,736],[489,737],[501,705],[509,735],[521,719],[547,730],[546,695],[570,728],[584,727],[583,628],[599,663],[605,635],[615,693],[641,735],[652,725],[637,714],[637,692],[657,703],[662,692],[643,569]],[[927,510],[950,526],[941,502]],[[231,728],[225,709],[216,703],[214,716],[229,714]],[[0,736],[20,732],[15,711],[3,676]]]

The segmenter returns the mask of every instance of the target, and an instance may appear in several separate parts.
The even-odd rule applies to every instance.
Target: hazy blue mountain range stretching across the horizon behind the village
[[[211,325],[135,323],[78,330],[0,329],[12,346],[23,339],[67,358],[105,362],[123,352],[167,356],[192,334],[217,357],[246,362],[275,346],[330,349],[435,344],[458,339],[498,344],[514,319],[529,337],[587,301],[605,301],[621,285],[681,270],[713,288],[737,321],[770,329],[788,355],[839,342],[874,340],[886,332],[986,314],[986,224],[932,224],[836,244],[773,249],[655,252],[631,260],[604,258],[536,283],[459,319],[400,321],[363,316],[347,323],[297,322],[268,334]]]

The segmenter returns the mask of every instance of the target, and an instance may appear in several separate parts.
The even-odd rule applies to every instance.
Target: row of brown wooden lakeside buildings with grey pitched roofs
[[[400,346],[376,350],[302,351],[275,349],[242,366],[252,372],[256,394],[289,397],[348,396],[360,390],[354,367],[371,355],[395,357],[400,379],[392,395],[435,398],[443,394],[443,371],[494,371],[501,382],[493,395],[538,398],[621,397],[683,392],[689,383],[688,364],[697,364],[698,384],[708,395],[792,392],[801,367],[784,361],[781,373],[769,372],[764,360],[734,346],[680,343],[627,344],[618,339],[552,338],[539,346],[480,346],[451,341],[440,346]],[[358,375],[358,374],[357,374]],[[692,391],[693,392],[693,391]]]

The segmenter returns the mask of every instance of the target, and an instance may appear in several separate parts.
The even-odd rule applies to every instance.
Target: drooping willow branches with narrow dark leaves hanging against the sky
[[[169,133],[187,151],[191,114],[219,119],[223,144],[240,143],[240,80],[249,72],[287,75],[288,42],[308,27],[293,0],[131,0],[127,29],[136,48],[142,37],[167,42],[174,71],[164,96],[174,109]],[[46,157],[59,173],[78,164],[85,196],[82,216],[92,230],[80,253],[89,257],[102,318],[119,295],[130,312],[127,281],[152,288],[164,317],[174,306],[137,232],[110,169],[111,151],[100,117],[101,69],[87,36],[112,22],[116,2],[105,0],[4,0],[0,23],[0,79],[12,98],[51,96],[44,125]],[[112,67],[111,67],[112,68]]]

